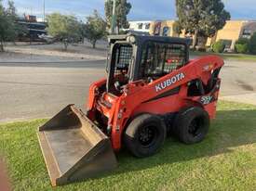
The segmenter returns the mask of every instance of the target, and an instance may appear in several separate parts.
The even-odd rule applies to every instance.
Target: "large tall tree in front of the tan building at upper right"
[[[194,34],[193,48],[198,36],[212,37],[230,19],[222,0],[176,0],[178,25]]]

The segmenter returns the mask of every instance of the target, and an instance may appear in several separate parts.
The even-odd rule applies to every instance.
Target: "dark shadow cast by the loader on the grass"
[[[256,110],[221,110],[211,122],[209,134],[195,145],[184,145],[168,137],[155,156],[136,159],[123,150],[117,154],[119,167],[114,173],[136,172],[158,165],[234,152],[231,148],[256,143]]]

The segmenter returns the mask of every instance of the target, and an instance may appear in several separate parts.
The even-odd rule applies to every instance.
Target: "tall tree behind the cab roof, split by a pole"
[[[115,0],[116,7],[115,7],[115,15],[116,15],[116,28],[117,32],[119,33],[120,29],[124,28],[127,29],[128,24],[128,13],[131,8],[131,4],[128,3],[127,0]],[[113,15],[113,0],[106,0],[105,1],[105,17],[107,21],[107,27],[111,27]]]

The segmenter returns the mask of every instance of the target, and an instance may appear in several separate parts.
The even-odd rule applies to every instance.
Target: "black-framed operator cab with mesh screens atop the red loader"
[[[109,36],[107,92],[120,96],[126,84],[152,83],[188,63],[188,39],[145,36]]]

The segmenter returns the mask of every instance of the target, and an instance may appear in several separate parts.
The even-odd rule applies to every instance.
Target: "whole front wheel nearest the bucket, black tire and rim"
[[[128,150],[138,158],[154,155],[163,145],[167,128],[159,117],[142,114],[128,124],[124,143]]]

